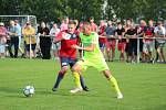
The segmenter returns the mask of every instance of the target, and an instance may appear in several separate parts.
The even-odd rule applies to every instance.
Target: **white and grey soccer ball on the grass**
[[[33,86],[25,86],[23,89],[23,95],[25,97],[31,97],[34,94],[34,87]]]

